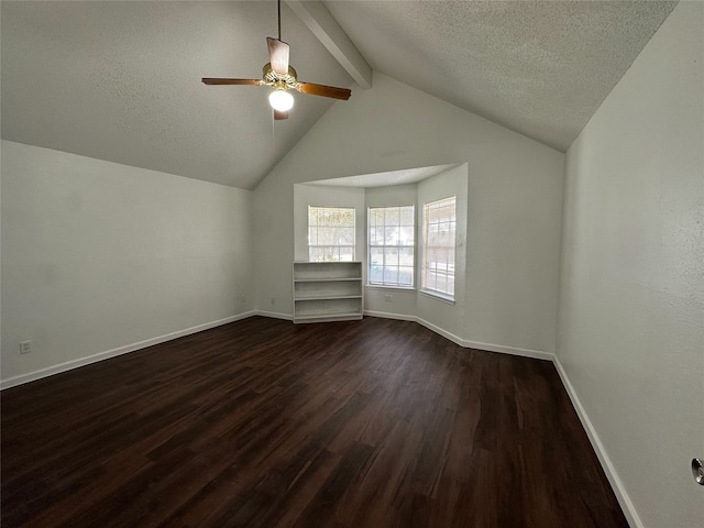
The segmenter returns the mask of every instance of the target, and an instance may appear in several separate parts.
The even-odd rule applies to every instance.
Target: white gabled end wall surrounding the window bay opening
[[[255,189],[257,306],[290,307],[294,184],[449,163],[468,163],[475,244],[462,337],[552,352],[564,155],[378,73]]]

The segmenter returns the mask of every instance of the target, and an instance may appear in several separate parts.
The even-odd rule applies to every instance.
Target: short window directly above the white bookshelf
[[[353,207],[308,207],[308,260],[354,261]]]

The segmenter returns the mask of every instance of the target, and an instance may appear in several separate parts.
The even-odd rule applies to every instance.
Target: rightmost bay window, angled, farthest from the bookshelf
[[[421,287],[454,298],[454,196],[424,205]]]

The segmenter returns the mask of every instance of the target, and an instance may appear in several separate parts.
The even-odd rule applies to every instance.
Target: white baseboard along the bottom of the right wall
[[[598,461],[601,462],[602,468],[604,469],[604,473],[606,473],[606,479],[608,479],[608,482],[610,483],[612,488],[614,490],[614,494],[616,495],[616,498],[618,499],[618,504],[620,505],[620,508],[624,512],[624,515],[626,516],[626,520],[628,520],[628,525],[631,528],[645,528],[642,521],[640,520],[640,517],[638,517],[638,513],[636,512],[634,503],[630,502],[630,497],[626,493],[624,483],[618,477],[618,474],[616,473],[616,469],[614,468],[612,460],[606,453],[606,449],[604,449],[604,444],[602,443],[601,439],[598,438],[598,435],[596,433],[596,429],[594,429],[594,426],[592,425],[592,420],[590,420],[590,417],[587,416],[586,410],[584,410],[584,407],[580,402],[580,397],[576,395],[576,392],[574,391],[574,387],[572,386],[572,383],[570,382],[570,378],[568,377],[566,372],[562,367],[562,363],[560,363],[560,360],[557,355],[554,356],[552,362],[556,369],[558,370],[560,380],[562,380],[562,385],[564,386],[565,391],[568,392],[568,395],[570,396],[570,399],[572,400],[572,405],[574,406],[574,409],[576,410],[576,415],[579,416],[580,421],[582,422],[582,427],[586,431],[586,436],[588,437],[590,442],[592,443],[592,448],[594,449],[594,452],[596,453],[596,457],[598,458]]]

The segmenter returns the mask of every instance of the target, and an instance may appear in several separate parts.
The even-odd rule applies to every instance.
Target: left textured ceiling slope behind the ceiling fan
[[[276,3],[6,2],[2,138],[253,188],[334,102],[296,94],[273,121],[268,90],[205,86],[261,78]],[[301,80],[351,77],[284,6]]]

